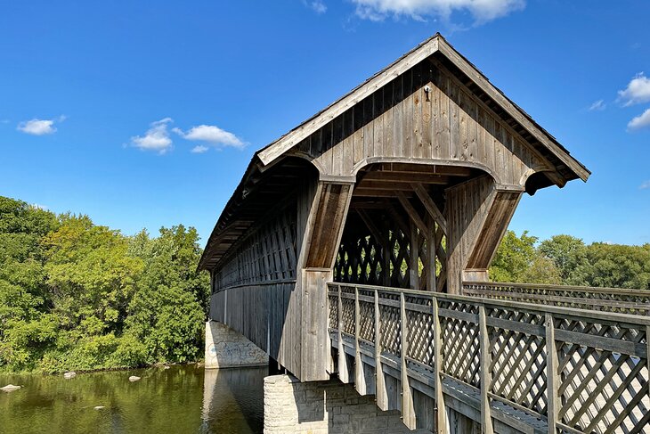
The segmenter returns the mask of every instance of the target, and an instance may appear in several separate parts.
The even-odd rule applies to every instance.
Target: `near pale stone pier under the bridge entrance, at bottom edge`
[[[264,379],[264,434],[402,434],[410,431],[396,410],[383,412],[338,380],[300,382],[290,375]]]

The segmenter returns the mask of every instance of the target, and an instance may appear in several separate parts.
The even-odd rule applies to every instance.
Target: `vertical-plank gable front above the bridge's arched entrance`
[[[350,176],[377,161],[482,168],[524,185],[551,170],[538,151],[442,64],[418,63],[297,145],[323,175]]]

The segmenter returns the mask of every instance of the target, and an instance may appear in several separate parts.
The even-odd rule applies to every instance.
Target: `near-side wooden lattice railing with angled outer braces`
[[[438,408],[445,379],[475,390],[483,423],[508,405],[548,432],[650,432],[644,316],[331,283],[329,330],[339,357],[347,340],[374,348],[376,373],[397,364],[407,426],[409,377],[424,375]]]

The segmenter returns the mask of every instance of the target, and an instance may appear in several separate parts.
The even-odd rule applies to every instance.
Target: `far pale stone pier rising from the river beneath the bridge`
[[[206,369],[268,366],[269,356],[224,323],[206,323]]]

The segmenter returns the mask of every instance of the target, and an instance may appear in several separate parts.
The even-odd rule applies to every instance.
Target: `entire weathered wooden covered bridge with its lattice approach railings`
[[[650,432],[647,291],[487,282],[522,195],[588,176],[436,35],[256,152],[210,317],[410,429]]]

